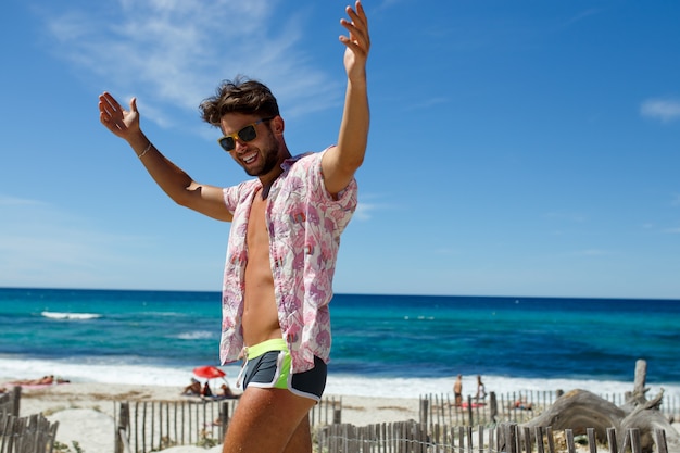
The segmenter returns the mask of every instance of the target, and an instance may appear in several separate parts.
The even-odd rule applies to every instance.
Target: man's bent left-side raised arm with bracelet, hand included
[[[222,189],[202,185],[187,175],[181,168],[167,160],[144,136],[139,126],[137,100],[130,101],[127,111],[108,92],[99,97],[99,119],[114,135],[121,137],[133,148],[153,180],[177,204],[205,214],[218,221],[231,222]]]

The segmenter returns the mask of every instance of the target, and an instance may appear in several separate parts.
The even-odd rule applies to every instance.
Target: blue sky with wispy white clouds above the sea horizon
[[[194,179],[247,175],[198,105],[272,87],[337,139],[345,1],[8,0],[0,286],[218,290],[229,225],[176,206],[108,90]],[[366,0],[372,130],[336,292],[680,299],[680,3]]]

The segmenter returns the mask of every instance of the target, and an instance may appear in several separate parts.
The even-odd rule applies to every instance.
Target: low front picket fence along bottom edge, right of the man
[[[621,445],[617,443],[614,428],[607,430],[604,449],[608,453],[643,453],[640,431],[629,429],[621,437]],[[657,453],[667,453],[666,433],[663,429],[654,431]],[[599,439],[595,430],[587,429],[585,439],[590,453],[597,452]],[[604,442],[600,442],[603,445]],[[537,427],[533,432],[529,428],[520,430],[515,424],[501,424],[484,430],[483,426],[473,430],[467,427],[448,427],[416,421],[378,424],[365,427],[353,425],[330,425],[317,429],[314,436],[316,453],[575,453],[577,441],[571,429],[564,435],[554,433],[551,428]]]

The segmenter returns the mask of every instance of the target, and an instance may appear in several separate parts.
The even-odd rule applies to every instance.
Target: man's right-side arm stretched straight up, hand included
[[[330,193],[344,189],[354,177],[354,173],[364,162],[368,141],[368,92],[366,88],[366,60],[370,48],[368,21],[360,1],[355,9],[347,8],[350,21],[340,21],[348,29],[348,36],[340,41],[347,47],[344,68],[348,87],[344,97],[344,110],[338,135],[338,146],[326,151],[322,161],[324,183]]]

